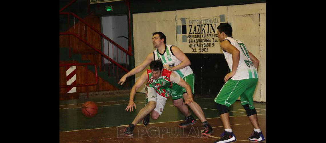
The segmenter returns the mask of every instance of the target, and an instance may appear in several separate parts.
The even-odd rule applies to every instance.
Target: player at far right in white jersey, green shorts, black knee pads
[[[244,107],[250,122],[254,126],[254,131],[249,137],[249,140],[265,140],[259,128],[257,111],[253,105],[253,94],[258,81],[257,68],[259,60],[246,49],[243,42],[233,39],[232,27],[229,23],[220,23],[217,27],[217,36],[220,41],[220,47],[229,65],[230,73],[224,77],[224,82],[226,83],[214,99],[218,114],[224,126],[224,133],[215,143],[226,143],[236,140],[230,126],[228,107],[239,96],[241,105]]]

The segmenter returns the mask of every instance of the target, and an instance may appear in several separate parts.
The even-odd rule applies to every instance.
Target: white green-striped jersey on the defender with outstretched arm
[[[158,50],[153,51],[154,60],[160,60],[163,64],[168,64],[170,67],[176,66],[181,63],[173,54],[171,48],[174,45],[165,45],[165,50],[163,54],[160,54]],[[184,78],[187,75],[194,73],[190,66],[186,66],[182,69],[173,71],[175,74],[179,75],[181,78]]]

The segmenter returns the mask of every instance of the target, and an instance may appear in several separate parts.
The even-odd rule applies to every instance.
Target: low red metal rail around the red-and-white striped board
[[[59,88],[70,88],[70,87],[82,87],[82,86],[86,86],[86,93],[87,93],[87,98],[88,98],[88,86],[94,86],[94,85],[97,85],[97,83],[98,83],[96,64],[94,64],[94,63],[59,64],[59,67],[60,66],[81,66],[81,65],[86,65],[86,69],[87,69],[87,65],[94,65],[94,67],[95,67],[96,82],[95,83],[88,83],[88,84],[59,85]],[[86,74],[86,76],[82,76],[82,77],[86,77],[87,78],[87,74]]]

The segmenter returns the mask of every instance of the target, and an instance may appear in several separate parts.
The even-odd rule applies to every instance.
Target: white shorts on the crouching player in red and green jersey
[[[156,93],[156,91],[153,87],[147,87],[147,86],[145,86],[145,95],[146,95],[146,97],[145,97],[146,105],[149,101],[155,101],[156,107],[155,107],[154,111],[156,111],[161,116],[163,109],[164,109],[164,105],[166,103],[166,100],[168,100],[168,98],[163,97],[162,95],[159,95],[158,93]]]

